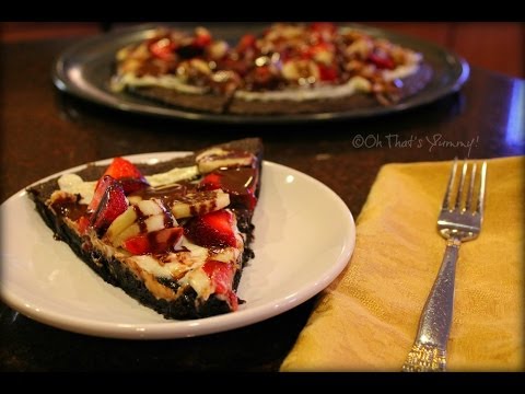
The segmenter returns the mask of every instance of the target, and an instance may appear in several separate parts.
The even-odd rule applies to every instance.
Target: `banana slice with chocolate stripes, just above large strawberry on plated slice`
[[[230,205],[230,195],[222,189],[188,193],[173,200],[170,207],[175,219],[212,212]]]

